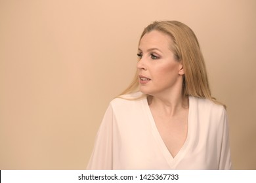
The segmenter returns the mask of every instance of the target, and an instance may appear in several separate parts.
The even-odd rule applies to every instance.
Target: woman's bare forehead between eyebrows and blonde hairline
[[[161,50],[171,48],[172,40],[169,35],[160,31],[150,31],[146,33],[140,40],[139,48],[156,47]]]

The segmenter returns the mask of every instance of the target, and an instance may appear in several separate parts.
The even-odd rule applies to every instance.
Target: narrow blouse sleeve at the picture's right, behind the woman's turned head
[[[221,122],[219,124],[219,146],[220,146],[220,159],[219,159],[219,169],[231,169],[231,156],[230,156],[230,145],[229,145],[229,129],[228,129],[228,118],[226,115],[226,110],[223,108],[221,114]]]

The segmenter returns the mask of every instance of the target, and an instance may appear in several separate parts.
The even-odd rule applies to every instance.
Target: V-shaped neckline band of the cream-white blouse
[[[188,132],[187,132],[187,136],[186,136],[186,141],[184,142],[184,144],[182,145],[181,149],[179,150],[179,152],[176,154],[176,156],[173,158],[173,156],[171,155],[171,153],[169,152],[167,146],[165,145],[165,143],[163,142],[163,139],[161,138],[161,135],[158,131],[158,128],[156,127],[156,122],[153,118],[152,112],[150,110],[150,107],[148,105],[148,101],[146,99],[146,97],[142,100],[144,103],[144,107],[146,110],[146,113],[148,114],[148,118],[152,127],[152,133],[154,135],[154,138],[156,139],[158,146],[160,147],[160,150],[163,154],[163,156],[165,157],[165,159],[167,160],[167,163],[169,164],[170,167],[173,167],[180,159],[182,159],[184,157],[184,155],[186,154],[186,151],[188,150],[188,146],[190,144],[190,131],[191,131],[191,114],[192,114],[192,102],[193,102],[193,98],[191,96],[188,97],[189,99],[189,109],[188,109]]]

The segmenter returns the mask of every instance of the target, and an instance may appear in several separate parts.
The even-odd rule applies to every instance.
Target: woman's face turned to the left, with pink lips
[[[161,95],[181,92],[183,67],[170,49],[171,37],[160,31],[146,33],[140,40],[138,56],[140,92]]]

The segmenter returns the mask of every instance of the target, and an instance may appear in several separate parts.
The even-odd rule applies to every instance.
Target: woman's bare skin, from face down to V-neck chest
[[[146,33],[140,40],[137,63],[139,75],[149,78],[140,91],[151,95],[148,104],[156,127],[173,158],[179,153],[188,132],[188,97],[182,95],[181,62],[170,49],[172,39],[160,31]]]

